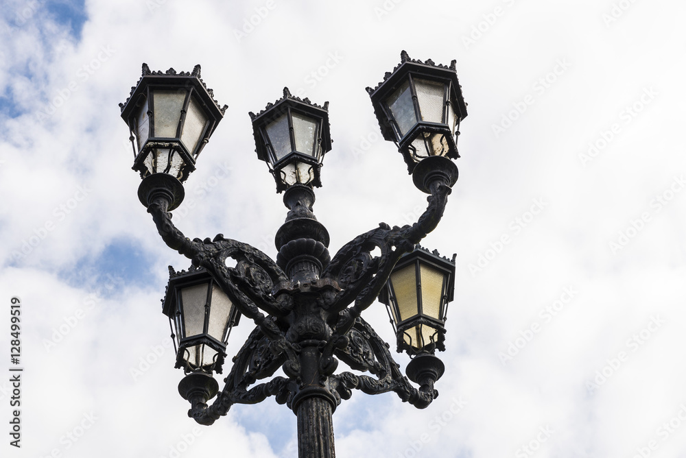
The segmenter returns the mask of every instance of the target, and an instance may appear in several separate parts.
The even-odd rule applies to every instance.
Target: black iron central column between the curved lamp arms
[[[331,338],[327,313],[321,307],[320,273],[329,264],[329,232],[312,213],[314,191],[303,184],[286,189],[289,209],[274,243],[276,263],[292,282],[294,308],[288,317],[286,338],[300,348],[298,389],[290,407],[298,417],[298,457],[335,458],[333,411],[337,400],[320,371],[322,348]]]

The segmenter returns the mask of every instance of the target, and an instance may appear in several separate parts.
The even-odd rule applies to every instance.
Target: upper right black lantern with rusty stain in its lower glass
[[[398,146],[410,173],[431,156],[460,157],[456,140],[467,111],[455,64],[421,62],[402,51],[401,63],[367,88],[383,138]]]

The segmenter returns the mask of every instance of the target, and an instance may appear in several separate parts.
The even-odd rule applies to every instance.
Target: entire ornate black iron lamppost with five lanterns
[[[257,156],[267,162],[289,210],[276,232],[276,261],[222,234],[187,239],[171,221],[169,212],[183,200],[182,182],[226,110],[200,79],[200,66],[163,73],[143,64],[137,86],[120,104],[133,169],[143,178],[139,199],[165,243],[192,263],[188,271],[169,267],[163,300],[176,367],[185,372],[178,389],[191,404],[189,417],[209,425],[236,403],[275,396],[297,415],[300,458],[335,456],[331,415],[352,389],[394,391],[423,409],[438,396],[434,383],[444,371],[434,352],[445,350],[455,256],[442,258],[418,243],[438,225],[458,178],[451,158],[459,157],[456,135],[466,104],[455,61],[436,65],[403,51],[401,64],[367,91],[383,137],[398,146],[414,184],[429,194],[428,206],[412,226],[381,223],[333,258],[329,232],[312,211],[322,158],[331,149],[328,102],[318,106],[285,88],[281,99],[250,113]],[[379,256],[370,254],[375,248]],[[377,297],[388,306],[398,351],[410,354],[407,377],[361,316]],[[228,335],[241,315],[255,328],[219,391],[213,373],[222,373]],[[336,374],[339,360],[370,375]],[[285,376],[273,376],[279,368]]]

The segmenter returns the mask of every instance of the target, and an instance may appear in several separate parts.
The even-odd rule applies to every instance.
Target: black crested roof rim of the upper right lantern
[[[374,114],[379,121],[379,127],[381,128],[381,134],[384,140],[393,141],[395,136],[393,133],[393,128],[383,121],[386,119],[383,112],[381,112],[381,101],[379,99],[391,91],[393,91],[399,84],[405,81],[407,73],[416,73],[418,75],[423,75],[431,79],[431,77],[440,77],[443,79],[449,79],[451,81],[451,96],[458,101],[458,106],[455,107],[456,115],[462,121],[462,119],[467,116],[467,104],[462,97],[462,86],[458,80],[458,73],[456,71],[456,60],[452,60],[450,65],[436,64],[433,60],[427,59],[424,62],[421,60],[411,59],[407,54],[407,51],[401,51],[400,53],[400,64],[398,64],[393,71],[387,71],[383,75],[383,81],[379,82],[375,88],[366,88],[367,93],[372,97],[372,105],[374,106]],[[451,97],[451,98],[452,98]]]

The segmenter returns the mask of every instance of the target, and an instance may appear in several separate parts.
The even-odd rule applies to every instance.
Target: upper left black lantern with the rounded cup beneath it
[[[200,65],[191,72],[150,71],[131,88],[126,102],[119,104],[121,117],[130,131],[134,152],[132,169],[145,181],[139,197],[147,206],[154,189],[166,187],[174,194],[176,208],[183,189],[169,178],[184,182],[196,168],[196,159],[224,117],[211,89],[200,78]],[[158,174],[165,174],[160,176]],[[167,177],[168,176],[168,177]]]

